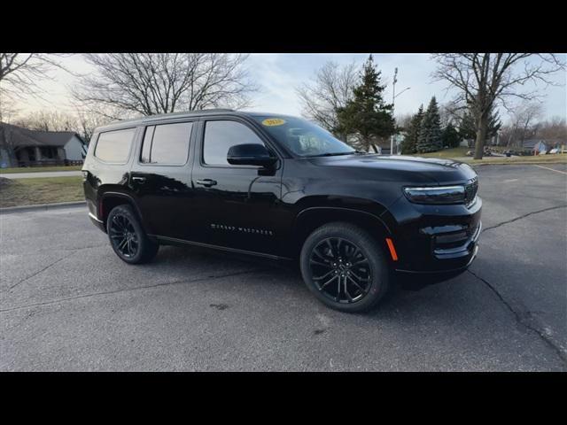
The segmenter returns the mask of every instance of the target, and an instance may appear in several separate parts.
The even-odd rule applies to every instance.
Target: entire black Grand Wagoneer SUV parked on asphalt
[[[299,259],[315,297],[342,311],[376,305],[394,272],[454,275],[478,250],[470,166],[355,151],[296,117],[120,121],[97,128],[82,170],[89,217],[127,263],[177,243]]]

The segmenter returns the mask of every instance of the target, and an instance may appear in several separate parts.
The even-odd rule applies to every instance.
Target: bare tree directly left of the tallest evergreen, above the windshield
[[[335,62],[327,62],[315,73],[313,81],[296,89],[302,115],[317,121],[330,132],[336,132],[337,111],[353,98],[353,88],[358,81],[359,69],[355,63],[339,66]]]

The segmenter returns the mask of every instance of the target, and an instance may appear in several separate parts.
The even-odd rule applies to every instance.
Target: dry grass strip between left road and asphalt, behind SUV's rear
[[[0,207],[84,200],[82,177],[9,180],[0,177]]]

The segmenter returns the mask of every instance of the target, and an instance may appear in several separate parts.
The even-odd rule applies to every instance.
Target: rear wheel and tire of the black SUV
[[[108,214],[106,233],[118,257],[128,264],[144,264],[153,259],[159,243],[151,241],[130,205],[118,205]]]

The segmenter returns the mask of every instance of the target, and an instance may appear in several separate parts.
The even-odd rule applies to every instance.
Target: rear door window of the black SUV
[[[140,162],[183,166],[189,155],[191,128],[192,122],[146,127]]]

